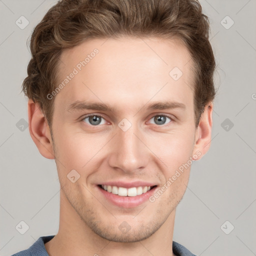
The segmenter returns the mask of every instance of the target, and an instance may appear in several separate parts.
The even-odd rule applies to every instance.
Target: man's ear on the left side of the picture
[[[42,156],[48,159],[54,159],[50,129],[39,104],[37,102],[34,103],[32,99],[29,99],[27,110],[31,138]]]

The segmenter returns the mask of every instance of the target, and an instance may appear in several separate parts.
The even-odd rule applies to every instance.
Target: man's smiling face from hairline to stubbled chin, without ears
[[[99,236],[145,239],[182,198],[196,154],[189,60],[178,41],[157,38],[97,38],[62,52],[51,130],[59,181]]]

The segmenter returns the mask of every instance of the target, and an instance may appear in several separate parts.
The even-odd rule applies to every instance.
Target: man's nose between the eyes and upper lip
[[[150,156],[145,136],[135,124],[126,131],[116,127],[116,134],[109,145],[109,152],[109,165],[125,173],[142,170],[148,164]]]

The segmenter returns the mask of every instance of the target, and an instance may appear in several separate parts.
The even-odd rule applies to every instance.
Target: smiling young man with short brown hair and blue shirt
[[[210,146],[208,28],[196,0],[66,0],[45,14],[23,91],[30,135],[56,162],[59,230],[15,255],[194,255],[172,237]]]

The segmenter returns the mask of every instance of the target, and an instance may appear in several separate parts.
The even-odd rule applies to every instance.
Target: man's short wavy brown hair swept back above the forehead
[[[22,90],[38,102],[49,126],[53,102],[47,94],[57,85],[63,49],[85,39],[118,36],[178,38],[187,47],[194,70],[194,116],[198,126],[204,107],[215,96],[214,54],[209,20],[197,0],[60,0],[35,26],[31,59]]]

